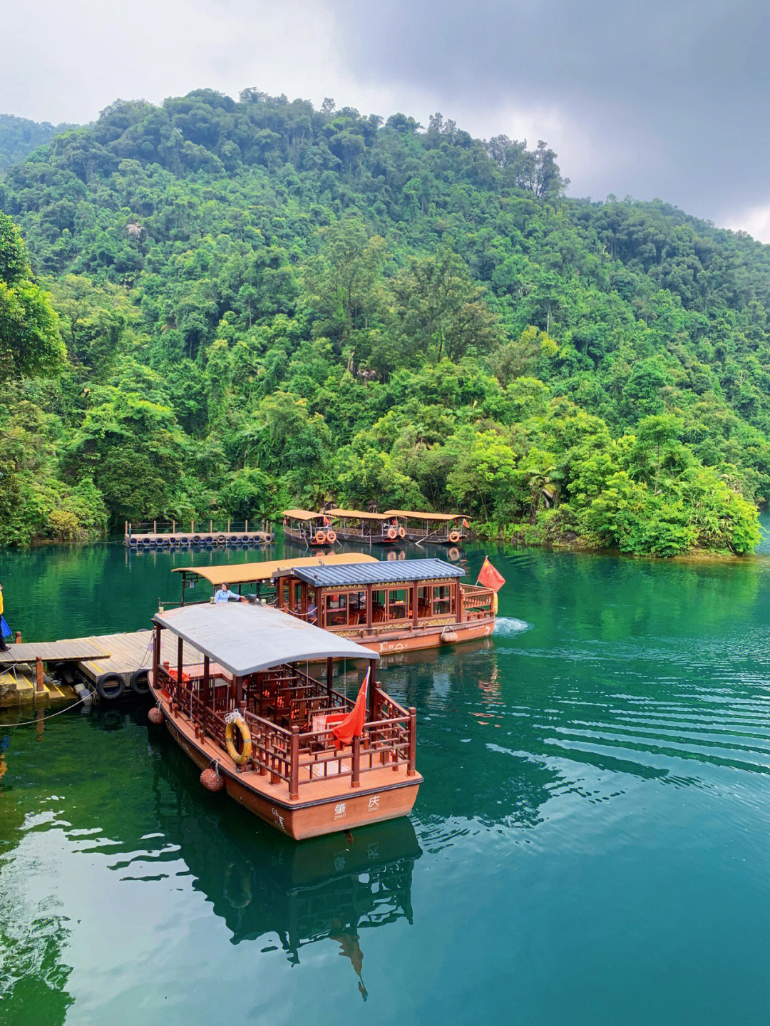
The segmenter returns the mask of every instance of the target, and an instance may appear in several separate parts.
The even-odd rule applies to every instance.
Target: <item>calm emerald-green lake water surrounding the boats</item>
[[[352,842],[207,794],[143,709],[0,728],[0,1022],[766,1023],[770,558],[490,555],[494,638],[382,672],[425,783]],[[146,626],[174,561],[5,553],[7,618]]]

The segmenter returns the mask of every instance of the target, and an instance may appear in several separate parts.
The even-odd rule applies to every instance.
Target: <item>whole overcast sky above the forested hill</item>
[[[658,197],[770,242],[770,5],[759,0],[27,0],[0,112],[85,122],[253,86],[559,154],[570,194]]]

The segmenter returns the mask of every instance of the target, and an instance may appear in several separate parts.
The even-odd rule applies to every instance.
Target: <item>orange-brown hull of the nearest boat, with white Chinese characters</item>
[[[226,793],[295,840],[408,816],[414,805],[422,783],[420,775],[409,777],[403,771],[396,773],[389,768],[362,775],[366,783],[358,788],[341,785],[331,794],[287,800],[285,787],[270,784],[268,775],[260,776],[254,771],[238,773],[235,763],[210,739],[196,739],[189,720],[171,712],[166,693],[155,687],[152,690],[171,737],[196,765],[205,770],[217,762]],[[369,779],[377,786],[369,786]],[[308,790],[312,787],[315,785]],[[328,787],[324,790],[328,791]]]

